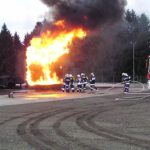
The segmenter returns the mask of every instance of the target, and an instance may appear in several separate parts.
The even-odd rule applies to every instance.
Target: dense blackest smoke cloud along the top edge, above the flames
[[[95,28],[122,18],[126,0],[41,0],[54,9],[55,21],[64,19],[71,25]]]

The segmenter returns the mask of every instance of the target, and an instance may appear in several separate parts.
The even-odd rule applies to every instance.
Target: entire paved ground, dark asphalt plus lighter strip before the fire
[[[150,91],[51,95],[0,98],[0,150],[150,149]]]

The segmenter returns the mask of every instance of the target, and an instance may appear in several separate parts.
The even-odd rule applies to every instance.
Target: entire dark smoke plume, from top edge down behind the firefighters
[[[49,15],[54,18],[54,22],[65,20],[67,28],[70,25],[80,26],[90,31],[86,38],[74,40],[69,55],[59,60],[65,68],[63,72],[94,72],[99,81],[114,81],[119,76],[116,69],[120,68],[118,53],[124,50],[124,43],[120,42],[120,30],[124,30],[127,0],[41,1],[50,8]],[[42,32],[49,29],[55,31],[57,27],[46,20],[42,24]]]

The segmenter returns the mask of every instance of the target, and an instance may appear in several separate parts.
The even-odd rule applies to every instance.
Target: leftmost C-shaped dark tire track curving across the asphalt
[[[37,124],[39,124],[44,119],[66,112],[70,109],[72,108],[66,108],[62,110],[59,109],[55,111],[42,113],[35,117],[29,118],[18,125],[17,134],[21,136],[24,139],[24,141],[26,141],[29,145],[34,146],[37,150],[53,150],[53,148],[59,150],[60,147],[58,146],[58,143],[53,142],[46,137],[40,137],[41,133],[39,132],[39,129],[34,127],[36,127]]]

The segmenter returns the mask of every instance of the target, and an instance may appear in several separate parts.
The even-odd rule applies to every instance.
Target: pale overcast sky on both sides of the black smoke
[[[128,0],[127,7],[150,18],[150,0]],[[48,8],[40,0],[0,0],[0,27],[5,22],[12,34],[17,32],[23,39],[46,12]]]

